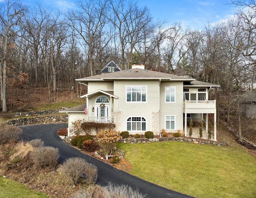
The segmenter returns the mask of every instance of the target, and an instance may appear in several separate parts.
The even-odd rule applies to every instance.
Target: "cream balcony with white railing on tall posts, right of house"
[[[185,100],[183,113],[216,113],[216,100]]]

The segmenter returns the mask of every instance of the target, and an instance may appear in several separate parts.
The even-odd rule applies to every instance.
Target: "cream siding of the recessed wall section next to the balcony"
[[[165,102],[165,87],[175,87],[175,102]],[[183,131],[183,82],[162,81],[160,85],[160,130],[165,129],[165,115],[175,115],[175,131]]]

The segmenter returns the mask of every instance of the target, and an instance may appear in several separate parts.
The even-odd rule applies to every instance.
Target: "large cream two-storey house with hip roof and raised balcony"
[[[140,67],[140,68],[138,68]],[[69,116],[68,135],[71,135],[71,121],[110,122],[117,131],[130,134],[144,134],[152,131],[158,135],[166,132],[184,132],[190,118],[202,120],[214,114],[214,140],[216,140],[216,100],[208,100],[208,92],[219,85],[196,81],[178,75],[143,69],[134,65],[132,69],[105,73],[76,79],[88,84],[84,107],[66,109]],[[80,113],[80,114],[79,114]]]

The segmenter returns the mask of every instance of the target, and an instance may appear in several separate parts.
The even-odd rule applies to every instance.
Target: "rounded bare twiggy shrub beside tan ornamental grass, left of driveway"
[[[36,166],[40,166],[41,168],[49,166],[52,168],[52,170],[54,170],[56,168],[60,154],[58,148],[39,147],[32,152],[31,157]]]

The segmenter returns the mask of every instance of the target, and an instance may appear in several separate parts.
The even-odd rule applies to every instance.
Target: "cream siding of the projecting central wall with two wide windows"
[[[129,86],[147,86],[147,101],[141,103],[129,103],[126,102],[126,85]],[[159,104],[159,81],[115,81],[114,82],[114,95],[118,96],[118,105],[114,107],[114,111],[118,111],[117,108],[122,111],[122,131],[126,131],[126,120],[130,116],[144,117],[147,122],[146,130],[152,130],[152,112],[158,112]]]

